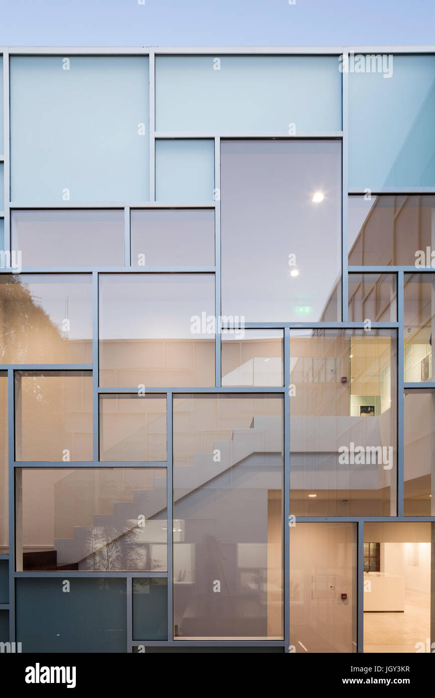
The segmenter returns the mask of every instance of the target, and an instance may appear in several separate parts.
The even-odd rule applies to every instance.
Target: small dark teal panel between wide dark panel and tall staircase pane
[[[133,640],[168,639],[168,581],[133,579]]]

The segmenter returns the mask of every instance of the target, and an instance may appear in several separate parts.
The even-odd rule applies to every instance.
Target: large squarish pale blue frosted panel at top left
[[[147,57],[14,56],[10,116],[13,201],[149,199]]]

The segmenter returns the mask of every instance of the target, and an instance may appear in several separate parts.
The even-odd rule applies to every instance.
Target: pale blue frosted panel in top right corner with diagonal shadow
[[[349,186],[434,186],[435,56],[376,68],[364,57],[364,72],[349,73]]]

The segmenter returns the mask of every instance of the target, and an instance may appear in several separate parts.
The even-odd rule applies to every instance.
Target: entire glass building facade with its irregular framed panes
[[[435,47],[64,51],[0,49],[0,641],[380,651],[399,559],[431,651]]]

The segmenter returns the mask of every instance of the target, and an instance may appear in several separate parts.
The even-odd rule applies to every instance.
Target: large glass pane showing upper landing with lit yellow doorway
[[[290,512],[395,516],[397,352],[389,330],[290,330]]]

